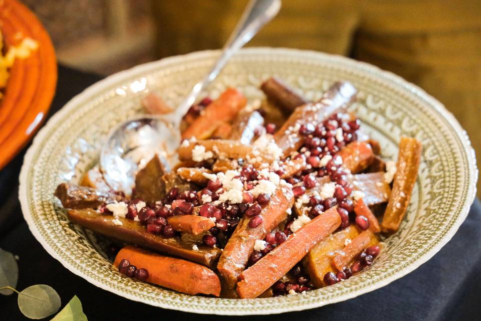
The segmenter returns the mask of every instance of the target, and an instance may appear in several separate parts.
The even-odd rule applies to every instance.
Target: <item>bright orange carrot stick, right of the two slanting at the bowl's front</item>
[[[277,248],[242,272],[237,283],[241,298],[259,296],[296,265],[317,243],[341,225],[336,208],[319,215],[289,236]]]

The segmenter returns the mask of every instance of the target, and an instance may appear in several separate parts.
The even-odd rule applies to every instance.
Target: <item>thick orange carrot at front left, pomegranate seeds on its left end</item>
[[[187,294],[219,296],[220,280],[210,269],[200,264],[126,246],[115,257],[114,266],[125,259],[137,269],[146,269],[145,281]]]

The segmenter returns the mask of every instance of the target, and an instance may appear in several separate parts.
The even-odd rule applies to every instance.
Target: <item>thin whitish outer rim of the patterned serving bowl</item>
[[[100,92],[102,92],[103,90],[111,86],[112,84],[117,83],[122,79],[127,79],[132,74],[140,75],[142,73],[148,73],[151,70],[162,67],[164,64],[173,63],[173,62],[182,62],[183,60],[192,61],[195,59],[205,59],[205,58],[213,57],[219,54],[218,50],[206,50],[206,51],[194,52],[186,55],[164,58],[159,61],[142,64],[142,65],[133,67],[131,69],[121,71],[111,76],[108,76],[105,79],[91,85],[90,87],[85,89],[83,92],[81,92],[80,94],[72,98],[61,110],[59,110],[55,115],[53,115],[50,118],[47,124],[36,135],[32,143],[32,146],[28,149],[25,155],[24,164],[22,166],[22,170],[20,173],[19,200],[22,205],[22,212],[24,214],[24,218],[27,221],[32,234],[37,238],[37,240],[43,245],[43,247],[52,257],[59,260],[60,263],[62,263],[70,271],[83,277],[90,283],[102,289],[108,290],[110,292],[116,293],[118,295],[121,295],[123,297],[129,298],[134,301],[140,301],[140,302],[144,302],[147,304],[151,304],[151,305],[155,305],[163,308],[170,308],[170,309],[176,309],[176,310],[181,310],[186,312],[195,312],[195,313],[210,313],[210,314],[222,314],[222,315],[273,314],[273,313],[281,313],[281,312],[289,312],[289,311],[299,311],[304,309],[320,307],[326,304],[341,302],[350,298],[354,298],[358,295],[373,291],[380,287],[383,287],[391,283],[392,281],[408,274],[409,272],[413,271],[418,266],[420,266],[421,264],[429,260],[453,237],[453,235],[456,233],[461,223],[466,218],[469,212],[470,205],[472,204],[475,198],[478,171],[476,168],[474,150],[471,147],[471,144],[466,132],[464,131],[464,129],[462,129],[462,127],[460,126],[458,121],[454,118],[454,116],[439,101],[437,101],[435,98],[427,94],[424,90],[420,89],[416,85],[413,85],[407,82],[403,78],[391,72],[383,71],[378,67],[370,65],[368,63],[358,62],[342,56],[329,55],[329,54],[324,54],[324,53],[309,51],[309,50],[298,50],[298,49],[290,49],[290,48],[270,48],[270,47],[245,48],[245,49],[242,49],[241,52],[255,53],[264,57],[268,57],[268,56],[275,57],[276,55],[282,56],[284,54],[288,56],[290,55],[290,56],[306,57],[307,59],[309,59],[309,57],[315,58],[317,56],[318,58],[322,58],[326,61],[329,60],[330,62],[343,65],[344,67],[347,67],[347,68],[356,68],[358,71],[361,71],[362,73],[374,75],[376,77],[382,78],[387,82],[391,82],[392,84],[402,87],[402,89],[404,89],[407,94],[414,95],[417,98],[421,98],[425,102],[424,104],[426,105],[426,107],[433,108],[435,111],[437,111],[439,115],[444,117],[452,125],[454,129],[453,135],[458,136],[458,138],[462,143],[462,147],[464,149],[464,152],[466,153],[466,158],[468,161],[468,168],[469,168],[468,170],[469,170],[471,182],[469,184],[469,189],[467,191],[465,202],[464,204],[462,204],[462,210],[460,211],[458,219],[454,222],[454,224],[447,231],[447,233],[444,234],[441,239],[439,239],[438,243],[435,246],[433,246],[429,251],[427,251],[424,255],[420,256],[416,261],[412,262],[410,265],[406,266],[405,268],[399,270],[397,273],[392,274],[387,278],[371,283],[368,286],[365,286],[356,290],[352,290],[348,293],[345,293],[344,295],[331,296],[331,298],[325,301],[319,300],[317,302],[309,303],[309,302],[303,302],[301,298],[296,301],[296,305],[292,305],[292,304],[289,304],[292,301],[286,300],[285,303],[289,302],[288,304],[283,304],[282,306],[273,306],[271,308],[265,308],[263,310],[256,309],[255,306],[252,306],[251,304],[248,304],[251,306],[251,308],[248,310],[236,310],[236,309],[229,309],[228,305],[222,306],[219,308],[217,307],[207,308],[207,307],[189,306],[187,302],[184,302],[185,303],[184,305],[176,305],[176,306],[173,306],[172,304],[169,304],[169,303],[165,304],[162,302],[160,303],[151,302],[148,300],[144,300],[138,296],[135,296],[134,294],[131,294],[131,293],[127,293],[127,292],[118,293],[115,291],[114,288],[111,288],[107,284],[104,284],[101,281],[97,281],[89,277],[88,275],[83,274],[82,271],[71,266],[66,260],[61,258],[61,256],[58,253],[56,253],[43,239],[43,237],[37,230],[33,221],[33,217],[29,211],[28,199],[27,199],[27,174],[29,172],[29,168],[34,166],[34,164],[32,164],[34,151],[38,149],[38,146],[40,145],[41,141],[46,139],[46,135],[49,132],[49,130],[55,127],[57,122],[62,117],[68,114],[68,112],[78,102],[85,100],[86,97],[93,97],[95,96],[95,94],[99,94]],[[302,295],[298,295],[298,296],[301,297]],[[206,299],[208,300],[208,298]],[[254,300],[258,300],[258,299],[254,299]]]

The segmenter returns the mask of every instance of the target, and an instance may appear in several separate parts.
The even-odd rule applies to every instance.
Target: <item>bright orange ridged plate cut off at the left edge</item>
[[[26,37],[39,44],[27,59],[15,60],[0,100],[1,170],[45,120],[57,85],[57,61],[47,31],[17,0],[0,0],[0,30],[7,49]]]

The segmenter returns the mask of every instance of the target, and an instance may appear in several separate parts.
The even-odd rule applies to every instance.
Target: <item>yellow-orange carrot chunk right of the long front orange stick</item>
[[[307,273],[316,287],[323,287],[324,275],[328,272],[336,272],[331,266],[331,260],[337,251],[342,250],[346,246],[346,240],[353,239],[359,235],[358,228],[351,224],[345,229],[336,232],[319,242],[304,257],[302,263]]]

